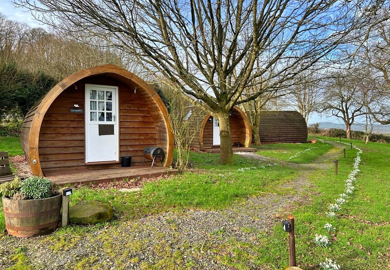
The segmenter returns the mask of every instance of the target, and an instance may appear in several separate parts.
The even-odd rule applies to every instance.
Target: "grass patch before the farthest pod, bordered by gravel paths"
[[[324,144],[317,140],[316,144],[264,144],[262,146],[252,146],[259,149],[257,154],[268,156],[277,160],[292,163],[310,163],[320,155],[323,155],[332,148],[330,144]],[[303,151],[306,151],[302,153]]]

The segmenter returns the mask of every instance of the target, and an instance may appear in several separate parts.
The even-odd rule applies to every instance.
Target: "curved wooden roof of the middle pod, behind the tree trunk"
[[[196,119],[194,119],[193,117],[190,117],[189,120],[192,119],[193,122],[199,121],[199,123],[202,123],[200,126],[200,129],[197,130],[197,134],[195,135],[195,138],[194,138],[191,146],[195,149],[200,150],[200,151],[204,151],[205,150],[204,130],[206,127],[207,120],[209,119],[211,114],[207,114],[206,112],[202,111],[200,108],[198,108],[196,106],[189,106],[189,107],[184,108],[184,112],[185,112],[184,115],[187,114],[190,110],[195,110],[197,113],[193,114],[193,115],[195,115]],[[251,128],[249,119],[246,116],[246,114],[243,112],[243,110],[241,110],[239,107],[234,106],[232,110],[238,112],[239,116],[243,120],[244,135],[242,137],[245,140],[243,142],[243,144],[244,144],[244,147],[250,147],[250,145],[252,143],[252,128]]]

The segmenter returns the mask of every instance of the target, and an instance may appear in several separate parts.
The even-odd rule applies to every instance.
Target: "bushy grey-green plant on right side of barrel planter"
[[[50,179],[40,176],[31,176],[22,181],[20,191],[34,200],[49,198],[53,194]]]

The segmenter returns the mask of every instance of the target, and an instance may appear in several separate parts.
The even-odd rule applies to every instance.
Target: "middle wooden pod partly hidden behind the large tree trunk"
[[[220,153],[221,140],[218,120],[195,106],[185,107],[184,110],[184,115],[187,115],[185,118],[188,118],[188,120],[184,119],[184,121],[196,121],[201,124],[200,129],[197,129],[197,134],[191,142],[191,147],[199,151]],[[252,130],[248,117],[237,106],[234,106],[230,113],[230,132],[233,152],[256,151],[255,148],[250,148]]]

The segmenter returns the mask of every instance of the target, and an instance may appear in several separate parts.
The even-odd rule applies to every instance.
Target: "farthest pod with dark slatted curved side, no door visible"
[[[306,121],[296,111],[261,111],[259,133],[261,143],[307,142]]]

